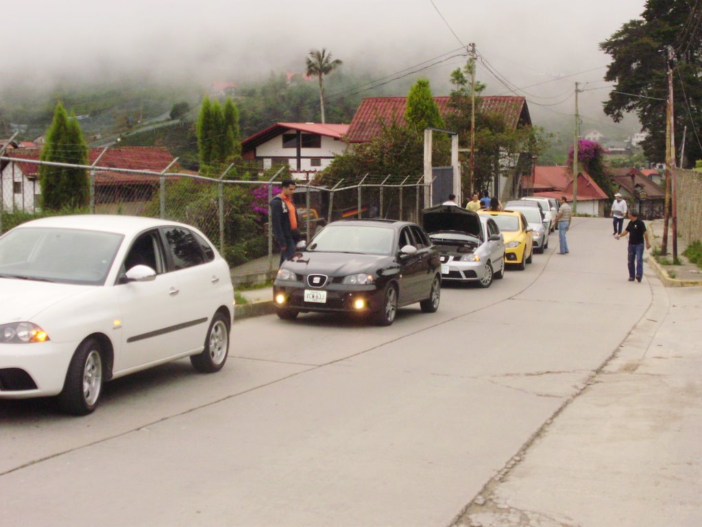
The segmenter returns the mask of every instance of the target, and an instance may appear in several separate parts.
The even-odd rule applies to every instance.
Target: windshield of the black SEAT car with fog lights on
[[[329,225],[310,242],[308,251],[391,254],[395,230],[361,225]]]

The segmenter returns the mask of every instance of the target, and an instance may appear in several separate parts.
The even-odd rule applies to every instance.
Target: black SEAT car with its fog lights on
[[[390,325],[397,308],[416,302],[434,313],[440,294],[439,254],[428,235],[415,223],[392,220],[329,223],[282,263],[273,283],[276,313],[285,320],[347,312]]]

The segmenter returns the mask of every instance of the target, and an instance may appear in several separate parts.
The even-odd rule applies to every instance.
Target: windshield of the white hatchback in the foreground
[[[0,278],[102,285],[124,238],[67,228],[15,228],[0,238]]]

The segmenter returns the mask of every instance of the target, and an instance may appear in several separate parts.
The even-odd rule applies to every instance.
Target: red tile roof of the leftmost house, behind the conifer
[[[91,148],[88,150],[88,163],[93,164],[104,148]],[[22,148],[5,152],[6,157],[14,157],[25,160],[39,160],[39,148]],[[173,161],[171,152],[163,147],[141,147],[127,146],[122,148],[108,148],[100,161],[99,167],[128,170],[148,170],[160,172],[168,167]],[[39,173],[39,164],[16,162],[22,174],[28,178],[36,178]],[[171,167],[171,171],[176,171],[178,165]],[[158,181],[158,176],[147,174],[129,174],[120,171],[95,171],[95,183],[105,185],[124,185],[128,183],[154,183]]]

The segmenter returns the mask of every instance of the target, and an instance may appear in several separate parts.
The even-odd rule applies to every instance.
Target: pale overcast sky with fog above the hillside
[[[588,90],[580,96],[590,114],[585,117],[611,124],[599,104],[607,98],[602,77],[609,57],[598,44],[638,18],[644,4],[645,0],[33,0],[2,11],[0,82],[44,83],[57,75],[112,77],[123,72],[173,81],[190,77],[240,82],[271,71],[302,72],[312,48],[329,49],[351,69],[377,66],[391,74],[432,58],[449,58],[475,42],[491,69],[522,89],[517,92],[527,96],[532,113],[572,114],[578,81]],[[463,64],[465,56],[456,56],[413,76],[429,77],[435,95],[446,95],[445,79]],[[486,94],[511,93],[484,65],[478,65],[477,74],[488,85]]]

